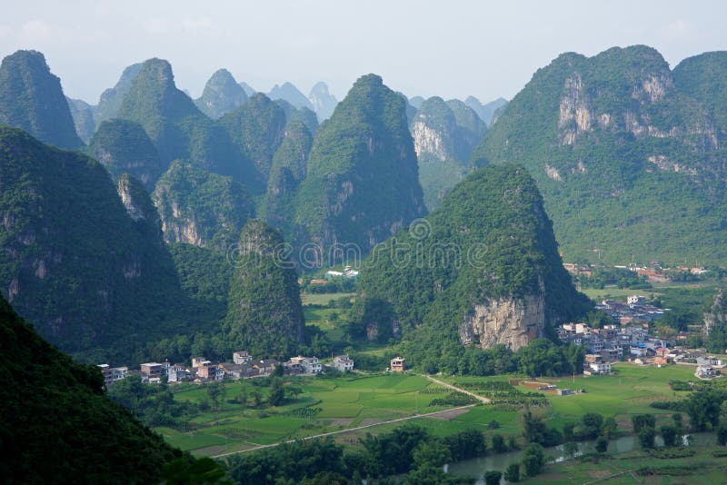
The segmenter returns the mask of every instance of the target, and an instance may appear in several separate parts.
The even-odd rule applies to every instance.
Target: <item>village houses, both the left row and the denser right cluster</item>
[[[556,329],[563,344],[573,343],[585,350],[583,374],[586,376],[612,373],[612,364],[617,361],[632,361],[639,365],[664,366],[667,364],[690,364],[695,366],[694,375],[699,379],[714,379],[722,375],[722,366],[727,362],[707,355],[702,349],[690,349],[685,345],[686,334],[660,336],[650,334],[652,322],[661,318],[669,309],[658,308],[642,295],[630,295],[626,302],[605,299],[594,308],[605,313],[613,323],[593,328],[585,322],[563,323]],[[331,364],[315,356],[296,356],[288,361],[255,359],[248,351],[234,351],[231,361],[213,362],[202,356],[192,357],[191,366],[184,363],[145,362],[138,370],[128,367],[111,367],[99,364],[104,374],[105,385],[124,380],[128,375],[138,375],[141,381],[156,384],[211,381],[230,381],[268,376],[279,366],[284,375],[317,375],[326,370],[354,371],[354,360],[348,354],[332,356]],[[385,371],[406,371],[403,357],[394,357]]]

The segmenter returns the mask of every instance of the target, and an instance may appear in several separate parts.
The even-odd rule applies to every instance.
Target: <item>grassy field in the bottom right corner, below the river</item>
[[[571,460],[548,465],[545,471],[526,483],[724,483],[727,462],[715,457],[723,447],[693,447],[694,456],[654,458],[644,451],[631,451],[602,460]],[[650,469],[645,473],[645,469]]]

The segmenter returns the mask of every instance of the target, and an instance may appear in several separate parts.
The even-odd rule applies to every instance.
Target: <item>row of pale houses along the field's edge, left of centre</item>
[[[284,373],[288,375],[318,374],[324,370],[324,366],[317,357],[297,356],[286,362],[275,361],[274,359],[254,359],[247,351],[233,352],[233,360],[227,362],[208,361],[204,357],[193,357],[192,366],[187,367],[184,363],[145,362],[139,367],[138,375],[144,383],[159,383],[163,379],[168,382],[211,382],[224,380],[247,379],[258,376],[267,376],[273,373],[278,366],[283,366]],[[121,381],[129,374],[136,374],[129,371],[127,367],[110,367],[108,364],[100,364],[98,367],[104,374],[106,387],[113,385],[115,381]],[[348,355],[337,355],[334,357],[332,366],[342,372],[353,371],[354,361]]]

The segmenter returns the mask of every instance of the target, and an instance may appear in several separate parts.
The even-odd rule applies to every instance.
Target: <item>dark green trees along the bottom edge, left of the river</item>
[[[513,440],[511,440],[513,441]],[[376,436],[366,434],[361,449],[344,449],[331,438],[298,440],[269,450],[234,455],[227,459],[228,472],[240,485],[278,483],[332,484],[375,482],[386,485],[465,484],[469,477],[445,473],[443,465],[453,461],[483,456],[488,448],[483,433],[476,430],[436,438],[422,427],[406,424]],[[511,446],[516,446],[514,442]],[[493,436],[491,448],[503,452],[510,448],[499,434]],[[545,463],[543,448],[533,444],[523,453],[522,463],[513,463],[504,477],[511,482],[523,474],[533,476]],[[488,472],[487,483],[497,483],[503,474]],[[393,477],[396,476],[394,479]]]

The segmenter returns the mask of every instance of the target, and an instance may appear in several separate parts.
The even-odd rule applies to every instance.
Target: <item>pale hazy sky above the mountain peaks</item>
[[[652,45],[672,67],[727,49],[727,2],[6,0],[0,55],[45,54],[65,94],[93,104],[124,67],[169,60],[196,97],[218,68],[267,92],[325,81],[341,99],[376,73],[408,96],[512,98],[558,54]]]

